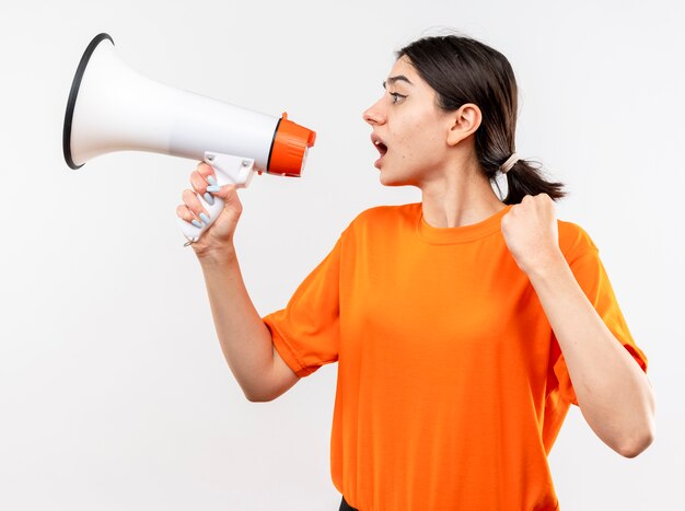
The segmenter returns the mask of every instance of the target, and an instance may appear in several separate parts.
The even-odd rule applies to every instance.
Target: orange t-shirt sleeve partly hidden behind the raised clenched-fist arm
[[[596,247],[590,248],[588,252],[577,257],[569,266],[576,280],[590,300],[590,303],[592,303],[597,311],[602,321],[604,321],[608,329],[614,334],[614,337],[616,337],[640,368],[642,368],[642,371],[647,372],[647,357],[632,339],[626,320],[618,307],[618,302]],[[566,360],[559,349],[554,332],[552,336],[553,351],[558,353],[556,362],[554,363],[554,374],[559,384],[560,396],[578,406],[578,398],[576,397],[576,391],[573,390],[573,384],[569,376]]]

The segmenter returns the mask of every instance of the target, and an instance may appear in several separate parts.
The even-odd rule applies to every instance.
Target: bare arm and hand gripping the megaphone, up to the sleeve
[[[206,193],[207,178],[211,175],[209,165],[198,165],[190,176],[197,193]],[[233,246],[233,233],[242,212],[235,187],[224,186],[213,195],[221,197],[225,207],[193,248],[205,276],[214,327],[223,356],[245,397],[252,402],[271,400],[292,387],[299,378],[274,348],[270,332],[247,294]],[[186,221],[200,220],[204,210],[195,193],[185,190],[183,199],[185,205],[177,208],[178,217]]]

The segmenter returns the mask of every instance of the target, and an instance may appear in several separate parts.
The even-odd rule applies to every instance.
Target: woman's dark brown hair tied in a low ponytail
[[[497,184],[497,173],[514,152],[516,131],[519,90],[509,60],[476,39],[454,34],[417,39],[396,53],[397,59],[403,56],[436,91],[440,108],[452,112],[465,103],[480,108],[476,156],[485,175]],[[532,163],[519,160],[509,170],[504,204],[519,204],[525,195],[543,193],[554,200],[567,196],[564,183],[546,181],[542,165]]]

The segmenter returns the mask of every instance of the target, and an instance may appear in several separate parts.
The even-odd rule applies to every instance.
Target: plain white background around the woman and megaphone
[[[140,152],[67,167],[78,61],[100,32],[159,81],[315,129],[301,179],[241,193],[257,310],[286,304],[387,188],[361,113],[404,44],[441,27],[511,61],[516,150],[570,196],[649,358],[657,438],[634,460],[572,407],[550,455],[565,511],[682,504],[685,113],[680,2],[3,1],[0,7],[0,509],[337,510],[336,364],[248,403],[216,338],[175,207],[196,162]]]

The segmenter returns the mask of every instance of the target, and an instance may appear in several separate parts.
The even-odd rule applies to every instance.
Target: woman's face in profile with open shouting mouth
[[[381,183],[420,186],[446,166],[453,115],[438,107],[436,91],[406,56],[395,61],[383,85],[383,96],[363,113],[381,153],[375,162]]]

